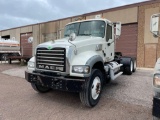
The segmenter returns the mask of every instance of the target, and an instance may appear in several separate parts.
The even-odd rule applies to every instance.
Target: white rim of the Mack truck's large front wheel
[[[92,98],[96,100],[100,92],[101,92],[101,81],[99,77],[95,77],[91,88]]]

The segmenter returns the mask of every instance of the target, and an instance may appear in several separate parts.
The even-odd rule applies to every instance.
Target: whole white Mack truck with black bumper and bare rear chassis
[[[62,39],[36,47],[25,79],[40,93],[78,92],[84,106],[94,107],[106,83],[136,71],[136,58],[115,52],[120,35],[121,22],[104,18],[68,23]]]

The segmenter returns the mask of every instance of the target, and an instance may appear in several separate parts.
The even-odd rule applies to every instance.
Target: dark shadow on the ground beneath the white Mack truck
[[[105,85],[102,95],[106,91],[113,89],[113,87],[115,86],[118,86],[117,82],[111,82],[110,84]],[[91,109],[89,107],[85,107],[84,105],[82,105],[80,98],[79,98],[79,93],[51,90],[50,92],[45,93],[45,94],[36,93],[34,94],[34,97],[36,97],[35,99],[38,99],[41,102],[44,102],[47,104],[49,103],[53,105],[53,107],[54,105],[56,105],[56,106],[61,106],[61,107],[63,106],[64,108],[70,107],[74,109],[83,109],[87,111]],[[98,106],[100,107],[101,104],[98,104],[92,109],[96,109]]]

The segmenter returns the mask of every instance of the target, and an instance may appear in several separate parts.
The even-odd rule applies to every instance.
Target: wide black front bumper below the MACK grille
[[[80,92],[85,81],[85,78],[48,76],[40,73],[30,73],[29,71],[25,71],[25,79],[37,85],[71,92]]]

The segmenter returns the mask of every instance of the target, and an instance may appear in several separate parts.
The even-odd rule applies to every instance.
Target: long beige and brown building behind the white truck
[[[150,16],[160,12],[160,0],[151,0],[112,9],[106,9],[53,20],[49,22],[22,26],[0,31],[0,36],[15,37],[21,43],[24,55],[34,54],[34,48],[48,39],[55,40],[63,36],[64,26],[78,18],[90,19],[101,15],[111,21],[122,22],[122,35],[116,42],[116,51],[123,55],[137,58],[138,67],[154,67],[156,59],[160,57],[160,40],[154,38],[149,31]],[[57,34],[58,33],[58,34]],[[34,42],[28,44],[27,39],[33,36]],[[28,47],[26,47],[28,46]]]

